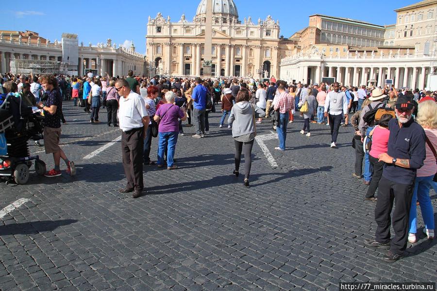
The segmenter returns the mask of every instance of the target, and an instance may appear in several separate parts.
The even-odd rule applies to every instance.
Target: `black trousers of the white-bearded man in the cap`
[[[388,242],[390,240],[390,224],[393,221],[395,236],[391,240],[390,247],[393,254],[402,254],[406,249],[413,190],[414,183],[410,185],[395,183],[384,176],[378,184],[378,201],[375,208],[375,221],[378,226],[376,227],[375,239],[377,242]],[[393,200],[395,210],[391,220]]]

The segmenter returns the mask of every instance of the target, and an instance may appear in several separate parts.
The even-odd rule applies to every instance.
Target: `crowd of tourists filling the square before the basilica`
[[[337,147],[340,126],[352,126],[355,148],[353,177],[368,185],[364,199],[376,202],[376,236],[370,247],[389,249],[383,258],[396,261],[406,243],[417,241],[416,204],[420,205],[425,227],[434,238],[434,214],[429,191],[437,171],[437,92],[393,87],[341,86],[290,83],[281,80],[201,78],[152,78],[135,76],[14,76],[2,75],[0,93],[19,93],[28,106],[42,108],[53,124],[44,131],[46,153],[53,153],[55,168],[47,177],[61,175],[60,158],[74,174],[59,147],[62,101],[73,100],[90,115],[90,123],[100,123],[101,107],[107,111],[107,125],[122,131],[123,166],[127,177],[121,193],[144,193],[143,165],[177,169],[174,154],[178,136],[184,135],[183,122],[195,129],[194,138],[207,137],[209,113],[221,111],[218,127],[232,129],[235,169],[239,176],[244,152],[244,186],[249,187],[251,152],[256,126],[271,123],[278,134],[275,150],[286,150],[287,125],[303,118],[300,133],[311,137],[310,125],[329,126],[330,147]],[[47,98],[48,95],[48,98]],[[0,99],[0,102],[2,100]],[[216,107],[217,106],[217,107]],[[218,109],[218,106],[221,108]],[[227,122],[226,122],[226,118]],[[152,138],[158,138],[157,162],[150,157]],[[364,161],[364,171],[363,171]],[[393,219],[390,213],[395,204]],[[393,222],[395,238],[390,239]]]

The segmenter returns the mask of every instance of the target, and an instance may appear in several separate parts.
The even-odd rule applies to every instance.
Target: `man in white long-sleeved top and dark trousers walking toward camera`
[[[326,95],[324,115],[329,118],[331,127],[331,147],[337,147],[337,135],[343,114],[348,114],[348,100],[344,92],[340,91],[340,84],[334,83],[334,91]]]

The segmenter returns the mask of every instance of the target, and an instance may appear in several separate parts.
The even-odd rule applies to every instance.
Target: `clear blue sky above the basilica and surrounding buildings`
[[[324,14],[329,16],[348,17],[379,25],[394,24],[396,22],[396,8],[401,8],[418,0],[309,0],[296,1],[295,5],[286,4],[291,1],[269,2],[266,0],[235,0],[240,20],[252,16],[252,21],[260,17],[265,19],[271,15],[279,19],[281,34],[290,36],[308,25],[308,16]],[[72,4],[74,3],[74,4]],[[92,5],[90,5],[92,3]],[[38,32],[42,37],[60,41],[63,32],[79,35],[79,43],[93,45],[106,42],[111,38],[113,43],[129,44],[134,41],[136,50],[146,51],[146,25],[150,15],[155,17],[161,12],[168,15],[171,21],[178,21],[182,14],[191,20],[196,14],[200,0],[167,0],[167,1],[129,1],[120,4],[120,1],[3,1],[1,5],[1,30]],[[157,5],[163,3],[163,5]],[[269,5],[269,3],[273,3]],[[335,5],[331,5],[335,3]],[[123,6],[124,5],[124,6]]]

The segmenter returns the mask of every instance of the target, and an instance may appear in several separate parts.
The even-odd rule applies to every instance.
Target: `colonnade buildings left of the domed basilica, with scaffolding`
[[[63,33],[60,42],[53,43],[36,32],[0,31],[0,72],[26,73],[44,71],[70,75],[84,75],[92,70],[110,76],[145,73],[145,57],[131,48],[106,43],[79,45],[77,34]],[[61,65],[61,66],[60,66]]]

